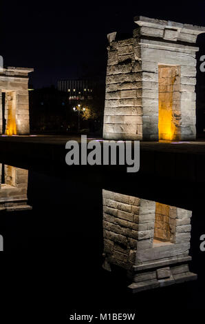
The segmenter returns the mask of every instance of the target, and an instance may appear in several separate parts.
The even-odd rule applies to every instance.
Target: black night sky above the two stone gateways
[[[34,68],[34,88],[58,79],[105,77],[107,33],[131,32],[143,15],[205,26],[203,1],[4,1],[5,66]]]

